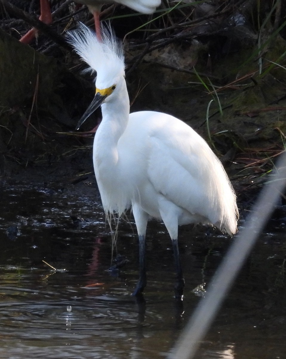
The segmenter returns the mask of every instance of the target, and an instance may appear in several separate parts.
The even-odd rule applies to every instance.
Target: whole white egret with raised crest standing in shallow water
[[[233,187],[219,159],[191,127],[162,112],[130,113],[122,45],[108,29],[102,42],[83,24],[68,41],[96,71],[95,96],[77,129],[101,106],[93,143],[93,165],[105,213],[121,216],[132,206],[139,236],[139,281],[146,286],[145,233],[150,218],[163,220],[173,243],[175,295],[183,295],[178,225],[208,224],[237,232]]]

